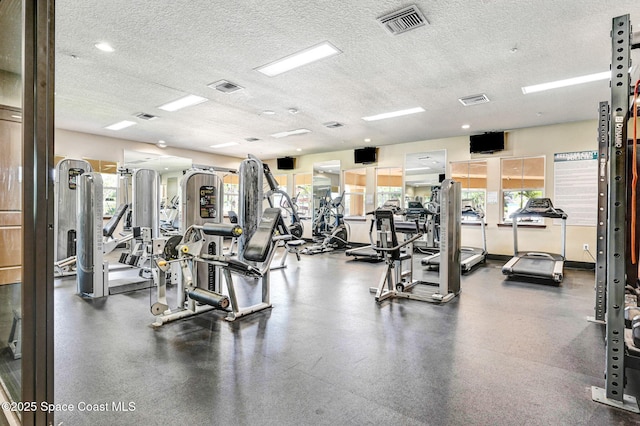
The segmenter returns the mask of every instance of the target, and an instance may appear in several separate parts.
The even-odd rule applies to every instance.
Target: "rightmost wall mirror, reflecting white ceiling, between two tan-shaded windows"
[[[404,206],[409,201],[423,205],[431,197],[431,188],[440,185],[447,165],[447,151],[414,152],[404,159]]]

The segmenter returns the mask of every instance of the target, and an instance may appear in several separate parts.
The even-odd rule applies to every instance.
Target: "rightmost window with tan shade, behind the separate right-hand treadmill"
[[[503,158],[501,161],[502,220],[511,222],[509,216],[524,207],[530,198],[544,196],[545,157]],[[527,222],[544,223],[544,219],[531,218]]]

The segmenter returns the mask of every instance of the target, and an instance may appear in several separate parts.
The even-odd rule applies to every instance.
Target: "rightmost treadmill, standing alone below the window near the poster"
[[[567,214],[553,207],[549,198],[531,198],[522,209],[510,216],[513,219],[513,258],[503,267],[502,273],[507,276],[523,276],[542,278],[560,283],[563,278],[564,260],[567,243]],[[547,217],[562,220],[562,253],[545,253],[535,251],[518,251],[518,219],[525,217]]]

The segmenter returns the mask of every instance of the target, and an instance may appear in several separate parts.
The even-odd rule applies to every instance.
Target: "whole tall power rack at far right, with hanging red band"
[[[598,215],[598,252],[602,249],[602,256],[598,256],[596,272],[596,319],[606,323],[606,370],[605,387],[592,386],[591,396],[594,401],[640,413],[636,398],[624,393],[626,368],[640,369],[640,348],[635,345],[633,330],[625,329],[624,319],[625,289],[638,287],[638,266],[635,264],[638,254],[635,241],[638,105],[634,97],[630,110],[629,98],[634,94],[637,97],[639,84],[636,83],[635,91],[631,91],[629,69],[631,49],[639,45],[632,44],[629,15],[613,18],[611,44],[611,106],[608,108],[606,103],[600,103],[599,115],[599,179],[607,185],[599,186],[599,210],[605,212]],[[630,111],[634,120],[631,144],[627,139]],[[604,149],[602,144],[607,136],[609,144]],[[628,170],[633,171],[632,179],[629,179]],[[605,239],[606,247],[601,245],[601,238]]]

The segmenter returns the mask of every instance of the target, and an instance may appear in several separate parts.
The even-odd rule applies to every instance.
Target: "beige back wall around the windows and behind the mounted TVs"
[[[467,161],[472,159],[487,160],[487,191],[500,192],[500,159],[546,156],[545,167],[545,195],[553,199],[553,154],[557,152],[587,151],[597,149],[597,122],[582,121],[553,126],[541,126],[528,129],[516,129],[508,132],[505,150],[495,154],[470,154],[468,136],[425,140],[419,142],[381,146],[378,150],[378,163],[367,166],[367,194],[375,193],[375,169],[377,167],[402,167],[404,156],[413,152],[424,152],[445,149],[447,163]],[[340,160],[342,170],[362,168],[353,162],[353,150],[332,153],[304,155],[296,160],[297,168],[290,174],[308,173],[314,162]],[[275,161],[267,161],[275,166]],[[451,176],[450,166],[447,167],[447,177]],[[594,194],[594,197],[596,194]],[[557,206],[562,208],[562,206]],[[373,205],[367,205],[367,210]],[[501,205],[487,205],[487,245],[489,253],[510,255],[513,252],[513,233],[511,227],[498,227],[501,219]],[[351,240],[354,242],[368,242],[368,225],[364,222],[351,222]],[[523,229],[519,233],[519,248],[521,250],[539,250],[560,252],[560,226],[554,225],[552,220],[546,221],[545,229]],[[309,225],[310,226],[310,225]],[[308,227],[308,226],[306,226]],[[306,229],[305,229],[306,231]],[[592,262],[591,257],[584,253],[582,245],[589,244],[591,253],[595,254],[596,228],[595,226],[567,227],[567,259],[573,261]],[[462,244],[478,246],[480,244],[480,230],[477,227],[466,226],[462,230]]]

